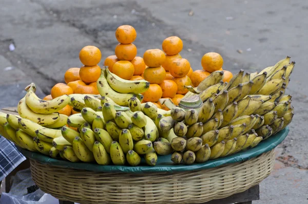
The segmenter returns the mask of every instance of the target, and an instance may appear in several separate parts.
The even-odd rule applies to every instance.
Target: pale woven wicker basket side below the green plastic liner
[[[202,203],[243,192],[273,170],[274,150],[239,163],[180,173],[102,173],[30,159],[40,189],[61,200],[94,203]]]

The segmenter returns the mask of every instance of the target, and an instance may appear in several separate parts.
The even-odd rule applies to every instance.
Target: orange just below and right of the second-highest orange
[[[174,77],[184,77],[190,69],[190,64],[186,59],[175,59],[171,63],[170,73]]]

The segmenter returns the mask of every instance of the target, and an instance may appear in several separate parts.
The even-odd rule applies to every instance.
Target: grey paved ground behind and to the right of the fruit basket
[[[98,46],[107,57],[117,41],[114,31],[136,28],[138,55],[161,48],[178,35],[182,56],[200,69],[204,53],[217,51],[224,69],[261,70],[286,55],[296,61],[287,93],[293,97],[295,118],[287,139],[277,149],[275,171],[261,183],[255,203],[308,203],[306,36],[308,2],[273,1],[99,1],[1,0],[0,107],[15,106],[23,88],[34,81],[48,94],[63,81],[69,67],[80,67],[80,49]],[[9,51],[14,44],[15,50]],[[237,50],[241,50],[239,53]],[[43,95],[43,94],[41,94]]]

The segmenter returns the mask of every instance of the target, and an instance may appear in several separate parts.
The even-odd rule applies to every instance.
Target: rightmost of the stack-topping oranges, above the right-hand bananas
[[[201,65],[205,71],[217,71],[222,67],[223,59],[221,55],[216,52],[208,52],[203,55]]]

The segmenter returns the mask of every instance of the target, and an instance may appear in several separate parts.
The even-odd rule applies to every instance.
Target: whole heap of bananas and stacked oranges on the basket
[[[192,72],[178,37],[140,58],[136,30],[120,26],[115,36],[120,44],[106,66],[98,66],[99,49],[86,46],[84,66],[70,68],[67,84],[56,84],[51,96],[40,99],[34,83],[27,86],[18,115],[0,113],[0,134],[55,159],[155,166],[160,155],[193,164],[252,149],[293,119],[292,95],[285,94],[295,66],[290,57],[233,76],[210,52],[203,70]]]

